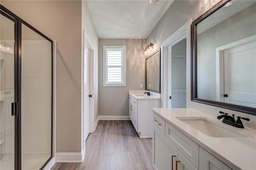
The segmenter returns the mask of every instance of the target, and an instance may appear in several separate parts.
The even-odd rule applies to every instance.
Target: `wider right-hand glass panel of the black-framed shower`
[[[40,169],[52,150],[52,43],[22,24],[22,169]]]

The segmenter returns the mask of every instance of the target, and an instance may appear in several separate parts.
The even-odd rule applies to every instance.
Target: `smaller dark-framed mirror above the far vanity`
[[[156,93],[160,93],[161,91],[160,60],[160,48],[146,58],[145,89],[148,91],[153,91]]]

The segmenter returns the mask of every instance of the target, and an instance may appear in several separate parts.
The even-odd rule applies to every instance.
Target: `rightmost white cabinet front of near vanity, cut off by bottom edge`
[[[212,154],[199,147],[199,170],[231,170]]]

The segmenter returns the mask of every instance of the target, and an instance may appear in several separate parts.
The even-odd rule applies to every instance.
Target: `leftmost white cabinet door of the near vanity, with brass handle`
[[[152,166],[154,170],[171,170],[172,155],[177,148],[153,125]],[[173,158],[175,164],[175,158]]]

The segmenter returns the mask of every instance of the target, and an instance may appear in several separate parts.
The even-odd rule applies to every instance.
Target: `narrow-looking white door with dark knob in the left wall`
[[[90,51],[84,53],[84,142],[90,132]]]

